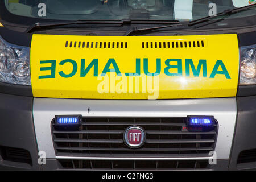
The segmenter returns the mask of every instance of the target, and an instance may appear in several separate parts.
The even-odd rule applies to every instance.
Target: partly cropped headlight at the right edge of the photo
[[[256,84],[256,45],[241,48],[240,85]]]

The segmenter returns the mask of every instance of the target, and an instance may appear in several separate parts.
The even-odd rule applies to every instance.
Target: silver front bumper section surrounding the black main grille
[[[56,156],[53,147],[51,121],[55,115],[62,114],[81,114],[87,117],[187,117],[187,115],[213,115],[219,125],[215,149],[217,159],[229,159],[237,107],[236,98],[188,100],[34,98],[33,116],[38,149],[39,151],[45,151],[48,159],[73,159],[69,156]],[[79,159],[83,158],[80,157]],[[168,160],[177,159],[168,158]]]

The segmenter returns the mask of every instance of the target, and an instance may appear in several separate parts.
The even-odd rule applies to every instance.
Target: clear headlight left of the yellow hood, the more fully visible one
[[[0,36],[0,82],[31,85],[30,49],[7,43]]]

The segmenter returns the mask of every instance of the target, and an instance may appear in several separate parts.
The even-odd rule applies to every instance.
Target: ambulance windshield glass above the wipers
[[[40,19],[191,21],[253,3],[256,0],[5,0],[5,7],[11,14]],[[230,18],[255,14],[253,9]]]

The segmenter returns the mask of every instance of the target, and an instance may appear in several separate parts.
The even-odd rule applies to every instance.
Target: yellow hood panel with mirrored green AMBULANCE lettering
[[[234,97],[238,85],[239,57],[236,34],[193,36],[35,34],[32,36],[31,44],[32,92],[35,97],[52,98]],[[83,61],[84,68],[81,66]],[[107,63],[110,62],[109,66]],[[148,72],[160,74],[148,75],[147,62]],[[101,75],[102,72],[104,73],[104,68],[105,71],[113,71],[114,63],[116,63],[116,73],[106,72],[105,76]],[[93,66],[88,67],[89,64]],[[173,68],[168,69],[170,65]],[[81,74],[86,67],[88,73]],[[117,75],[118,69],[120,74]],[[125,76],[125,73],[135,73],[136,69],[140,75]],[[69,75],[70,73],[72,74]],[[138,78],[141,80],[136,80]]]

